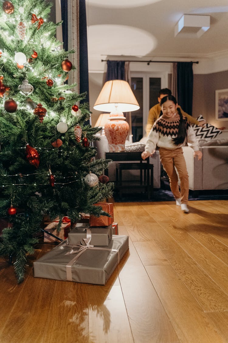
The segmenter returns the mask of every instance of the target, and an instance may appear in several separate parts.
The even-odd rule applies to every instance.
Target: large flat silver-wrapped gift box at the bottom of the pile
[[[112,236],[108,247],[85,248],[71,255],[72,249],[78,249],[67,241],[33,262],[35,277],[105,285],[129,247],[128,236]]]

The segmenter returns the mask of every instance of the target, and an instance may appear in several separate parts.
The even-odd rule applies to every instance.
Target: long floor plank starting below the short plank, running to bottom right
[[[181,342],[224,342],[170,265],[146,270]]]

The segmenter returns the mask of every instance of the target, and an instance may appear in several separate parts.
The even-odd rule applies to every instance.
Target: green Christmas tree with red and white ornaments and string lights
[[[80,213],[99,216],[104,213],[93,204],[113,189],[103,183],[108,161],[94,159],[90,142],[100,128],[85,124],[85,94],[66,84],[74,51],[60,49],[55,33],[61,23],[47,21],[51,6],[13,0],[0,8],[0,217],[10,223],[0,255],[13,256],[18,282],[45,214],[59,216],[59,228],[64,216],[71,222]]]

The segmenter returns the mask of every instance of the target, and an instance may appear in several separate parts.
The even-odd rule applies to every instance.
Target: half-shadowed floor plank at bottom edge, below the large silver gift
[[[89,331],[97,343],[134,342],[120,286],[89,286]]]

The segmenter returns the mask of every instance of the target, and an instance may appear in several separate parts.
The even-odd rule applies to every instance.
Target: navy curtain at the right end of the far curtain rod
[[[178,105],[192,115],[193,71],[192,62],[177,62]]]

